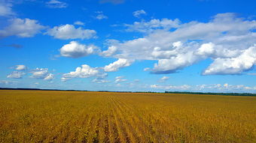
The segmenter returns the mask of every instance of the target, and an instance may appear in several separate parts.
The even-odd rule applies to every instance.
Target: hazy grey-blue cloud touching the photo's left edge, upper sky
[[[17,37],[33,37],[40,33],[45,27],[40,25],[34,19],[10,19],[10,25],[0,30],[0,37],[17,36]]]

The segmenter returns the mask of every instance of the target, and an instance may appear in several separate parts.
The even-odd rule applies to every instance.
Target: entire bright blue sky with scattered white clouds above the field
[[[256,93],[254,0],[0,0],[0,87]]]

